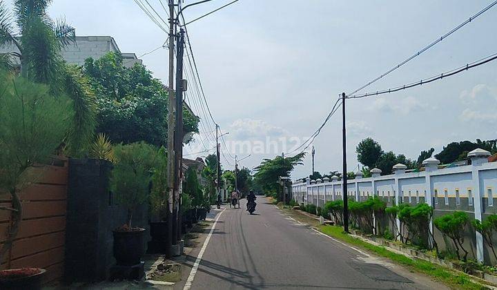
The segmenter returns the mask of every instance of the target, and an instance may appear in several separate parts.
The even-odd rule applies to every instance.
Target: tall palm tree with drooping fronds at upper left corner
[[[75,29],[64,19],[48,16],[51,2],[15,0],[12,14],[0,0],[0,46],[12,48],[0,56],[0,67],[12,70],[18,60],[21,76],[72,98],[75,117],[65,143],[70,155],[81,155],[95,131],[93,98],[86,79],[60,55],[62,48],[75,43]]]

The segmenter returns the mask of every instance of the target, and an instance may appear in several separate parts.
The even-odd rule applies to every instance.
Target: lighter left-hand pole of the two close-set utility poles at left
[[[175,222],[173,218],[174,212],[174,164],[175,164],[175,152],[174,152],[174,125],[175,125],[175,94],[174,94],[174,0],[169,0],[169,83],[168,83],[168,158],[167,158],[167,172],[168,172],[168,215],[167,215],[167,231],[168,238],[166,244],[166,257],[170,258],[173,256],[173,223]]]

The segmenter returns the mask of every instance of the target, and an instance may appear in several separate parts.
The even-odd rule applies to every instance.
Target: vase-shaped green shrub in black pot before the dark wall
[[[148,201],[156,155],[155,148],[144,142],[119,144],[114,148],[110,188],[128,213],[126,223],[113,231],[114,258],[118,265],[139,264],[144,255],[146,230],[133,226],[132,221],[137,206]]]

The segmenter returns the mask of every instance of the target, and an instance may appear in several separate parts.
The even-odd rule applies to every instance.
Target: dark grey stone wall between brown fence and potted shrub
[[[115,264],[112,231],[126,223],[127,211],[109,190],[111,169],[112,164],[105,160],[69,160],[66,281],[105,280]],[[150,240],[148,205],[135,211],[133,224],[147,229],[146,249]]]

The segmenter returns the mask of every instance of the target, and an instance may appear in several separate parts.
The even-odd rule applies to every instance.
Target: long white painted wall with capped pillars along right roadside
[[[425,171],[406,173],[407,166],[393,166],[394,174],[380,176],[378,168],[372,177],[362,178],[358,172],[354,180],[347,180],[347,195],[357,201],[377,195],[388,204],[426,202],[436,214],[443,211],[466,211],[471,218],[483,220],[485,215],[497,213],[497,162],[488,162],[490,153],[476,149],[468,153],[471,165],[438,169],[440,162],[431,157],[423,162]],[[328,201],[342,199],[342,182],[306,180],[292,184],[292,198],[303,204],[324,206]],[[476,232],[476,258],[484,260],[483,238]]]

